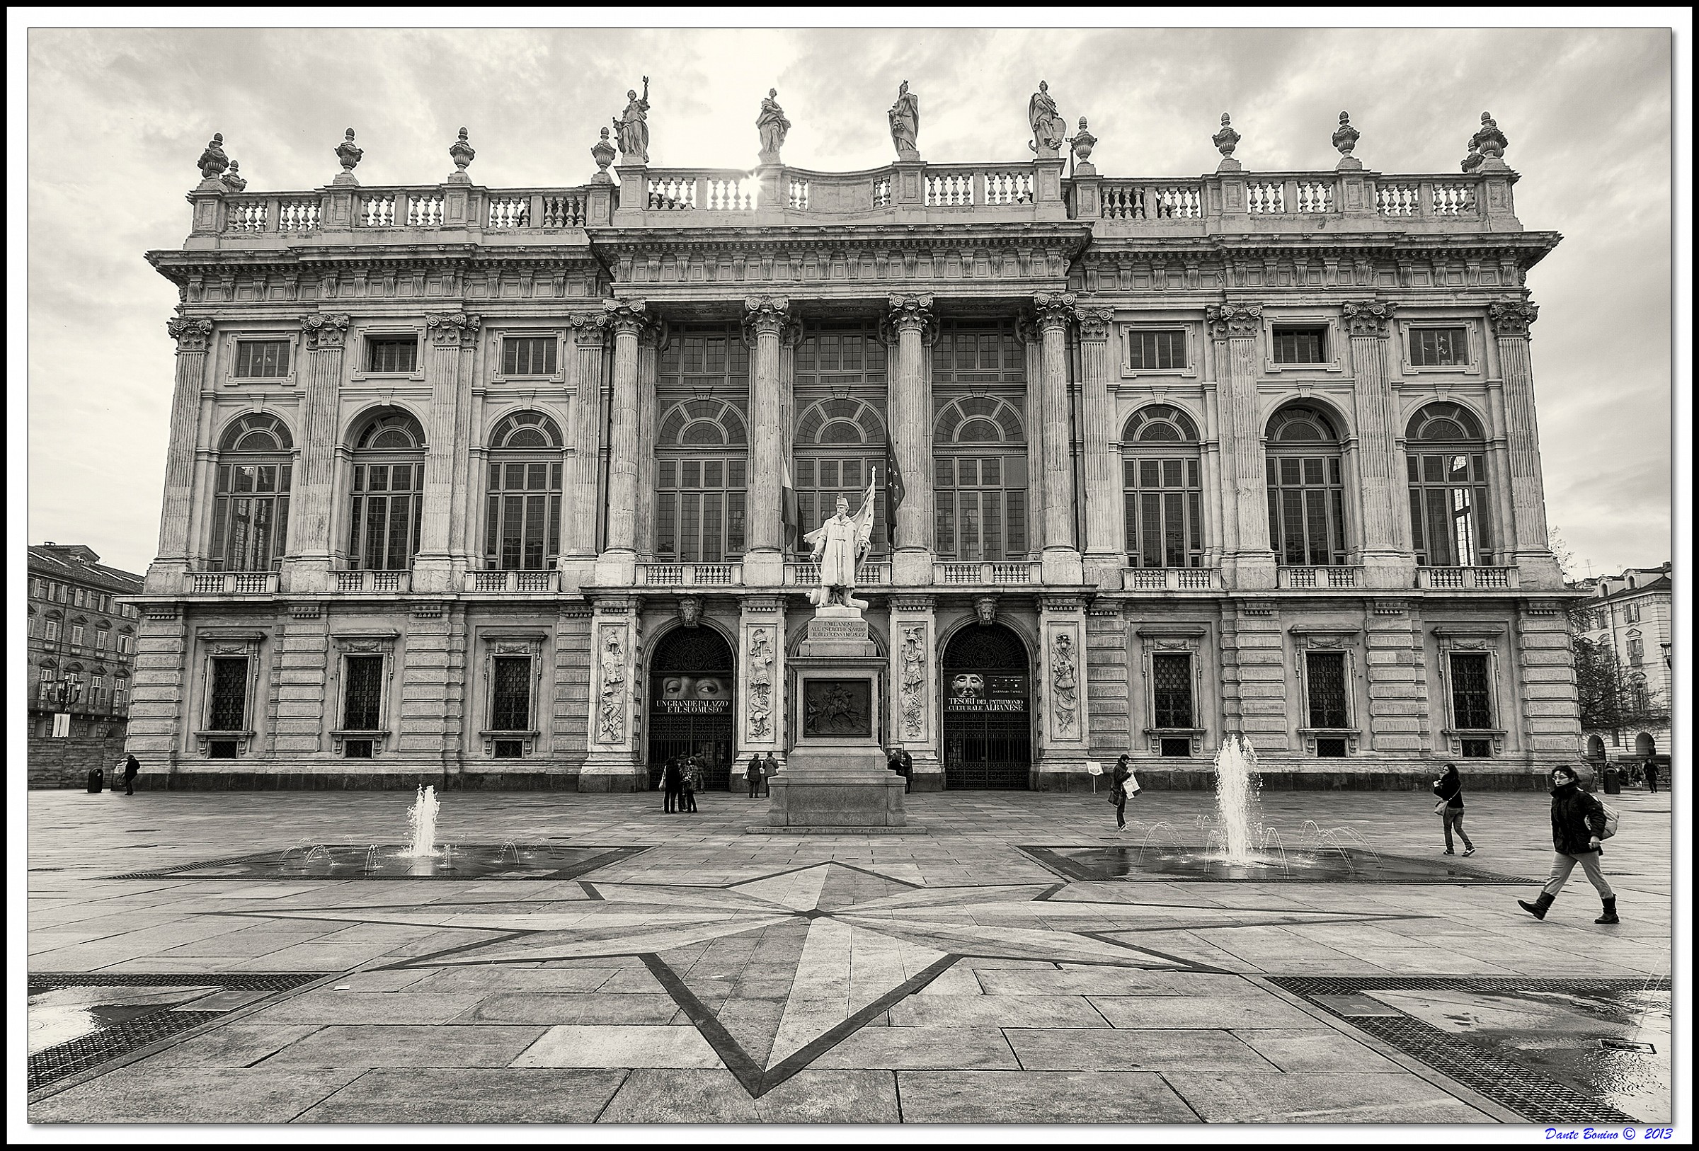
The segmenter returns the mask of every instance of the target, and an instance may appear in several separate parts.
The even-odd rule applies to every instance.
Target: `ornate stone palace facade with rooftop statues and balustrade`
[[[860,506],[916,788],[1391,786],[1578,755],[1504,136],[1465,170],[647,163],[248,192],[180,289],[129,747],[172,786],[639,789],[785,759],[802,533]],[[904,105],[904,100],[909,104]],[[773,110],[775,100],[768,100]],[[917,124],[917,114],[912,117]],[[780,126],[782,124],[782,126]],[[635,129],[641,129],[635,131]],[[1318,144],[1325,146],[1320,134]],[[1072,158],[1062,149],[1072,148]],[[260,781],[265,781],[263,784]],[[1400,784],[1402,786],[1402,784]]]

